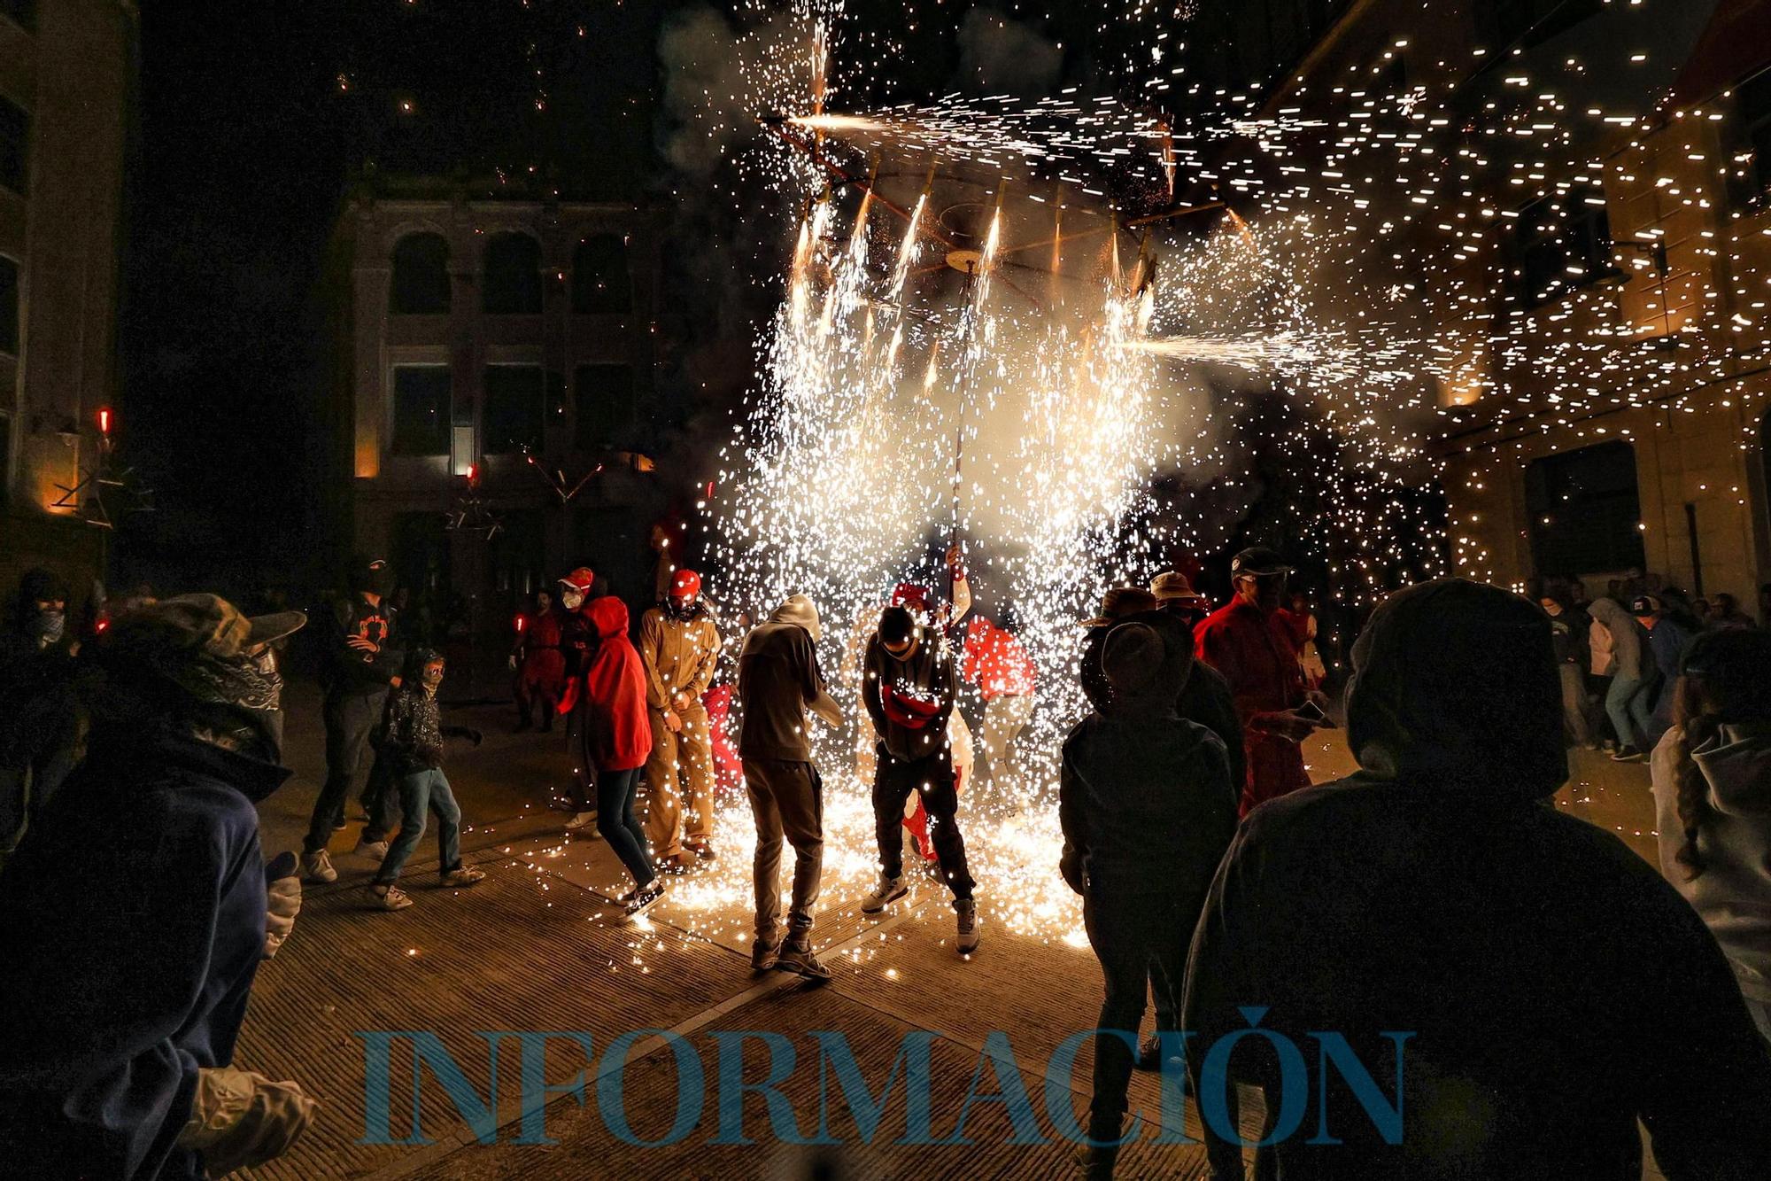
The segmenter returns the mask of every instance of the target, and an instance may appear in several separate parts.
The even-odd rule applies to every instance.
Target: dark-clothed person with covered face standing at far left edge
[[[78,644],[67,583],[25,571],[0,633],[0,865],[80,757]]]

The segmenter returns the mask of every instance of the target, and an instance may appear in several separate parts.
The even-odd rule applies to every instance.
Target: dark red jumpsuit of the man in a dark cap
[[[1224,674],[1236,697],[1249,745],[1249,780],[1241,789],[1241,816],[1268,800],[1309,787],[1303,748],[1249,723],[1257,713],[1280,713],[1303,704],[1303,672],[1298,669],[1296,628],[1291,614],[1272,615],[1254,603],[1234,599],[1206,615],[1194,631],[1199,660]]]

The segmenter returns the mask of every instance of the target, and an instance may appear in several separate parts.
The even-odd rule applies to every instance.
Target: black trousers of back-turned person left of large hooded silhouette
[[[1082,896],[1082,924],[1089,947],[1100,959],[1107,997],[1094,1037],[1094,1098],[1089,1103],[1089,1137],[1118,1140],[1126,1110],[1126,1087],[1137,1060],[1137,1027],[1144,1020],[1146,981],[1156,988],[1156,1023],[1174,1028],[1179,1009],[1187,947],[1199,920],[1199,904],[1178,899],[1172,887],[1142,890],[1096,890]]]

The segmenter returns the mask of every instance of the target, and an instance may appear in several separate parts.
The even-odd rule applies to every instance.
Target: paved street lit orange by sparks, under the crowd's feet
[[[264,807],[267,851],[296,848],[306,823],[322,757],[317,702],[296,686],[290,700],[289,761],[298,771]],[[558,782],[560,736],[508,734],[498,706],[446,711],[446,720],[485,731],[478,750],[452,743],[450,777],[464,810],[466,860],[489,878],[473,890],[443,890],[436,881],[436,844],[427,833],[406,883],[416,904],[402,913],[368,906],[372,865],[351,855],[358,826],[333,841],[340,881],[310,887],[296,935],[264,966],[246,1020],[237,1062],[273,1076],[298,1078],[322,1101],[321,1115],[298,1149],[259,1170],[262,1177],[747,1177],[811,1176],[839,1165],[841,1176],[1068,1176],[1068,1144],[1047,1115],[1045,1068],[1070,1034],[1089,1028],[1100,1004],[1100,974],[1080,936],[1080,910],[1056,872],[1056,823],[1048,817],[974,823],[967,839],[983,865],[978,872],[985,942],[969,961],[953,949],[953,911],[932,880],[907,904],[868,919],[859,897],[871,881],[870,817],[854,791],[832,791],[827,805],[825,892],[816,942],[836,968],[829,986],[797,977],[754,977],[749,936],[749,812],[728,802],[719,825],[724,851],[712,869],[673,883],[669,899],[641,924],[627,924],[611,897],[627,890],[607,846],[563,837],[560,812],[547,807]],[[1344,773],[1351,761],[1328,736],[1311,754],[1318,780]],[[1652,853],[1652,805],[1642,766],[1583,759],[1580,791],[1557,805],[1617,830],[1643,855]],[[836,778],[836,777],[832,777]],[[352,802],[354,810],[354,802]],[[519,1096],[514,1043],[499,1055],[499,1091],[487,1126],[498,1144],[473,1142],[464,1115],[445,1094],[430,1064],[416,1103],[421,1135],[411,1135],[413,1062],[409,1043],[391,1052],[391,1124],[365,1144],[363,1030],[432,1030],[476,1094],[491,1096],[491,1062],[482,1030],[584,1030],[597,1066],[613,1037],[627,1030],[673,1030],[696,1044],[707,1064],[707,1105],[700,1126],[668,1147],[629,1147],[606,1126],[607,1105],[592,1094],[586,1108],[553,1096],[545,1133],[558,1144],[514,1144]],[[1013,1068],[1040,1112],[1043,1146],[1009,1146],[1004,1105],[976,1103],[965,1122],[971,1147],[896,1147],[905,1131],[900,1101],[886,1108],[871,1147],[781,1146],[769,1131],[760,1094],[742,1096],[744,1133],[754,1147],[717,1144],[715,1062],[721,1030],[777,1030],[800,1055],[785,1083],[799,1128],[818,1124],[820,1071],[811,1030],[841,1030],[877,1092],[907,1034],[928,1030],[933,1133],[955,1130],[963,1096],[999,1092],[985,1069],[974,1083],[992,1032],[1008,1036]],[[730,1050],[730,1046],[728,1046]],[[1068,1075],[1073,1110],[1086,1105],[1091,1050],[1082,1046]],[[625,1117],[641,1138],[662,1138],[677,1114],[677,1064],[668,1044],[646,1037],[632,1046],[622,1094]],[[751,1044],[744,1078],[763,1076],[765,1048]],[[568,1041],[549,1041],[545,1078],[570,1080],[588,1064]],[[1009,1069],[1002,1064],[1002,1069]],[[834,1087],[834,1083],[827,1083]],[[1059,1087],[1063,1089],[1063,1082]],[[1059,1092],[1061,1094],[1061,1092]],[[1153,1076],[1133,1078],[1132,1101],[1160,1126],[1162,1094]],[[1250,1114],[1245,1112],[1245,1121]],[[850,1107],[832,1099],[829,1130],[855,1142]],[[896,1121],[896,1122],[894,1122]],[[1188,1105],[1185,1130],[1197,1135]],[[1121,1156],[1126,1177],[1204,1176],[1199,1147],[1151,1144],[1149,1135]],[[887,1147],[891,1146],[891,1147]],[[1652,1174],[1651,1174],[1652,1176]]]

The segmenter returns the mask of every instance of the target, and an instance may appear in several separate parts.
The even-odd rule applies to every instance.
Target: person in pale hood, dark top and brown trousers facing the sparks
[[[788,598],[751,628],[739,654],[739,757],[756,821],[756,940],[751,968],[781,968],[813,979],[831,970],[811,949],[813,908],[824,880],[824,780],[811,761],[815,713],[825,725],[843,716],[818,669],[818,608]],[[781,936],[781,844],[793,846],[793,896]]]

